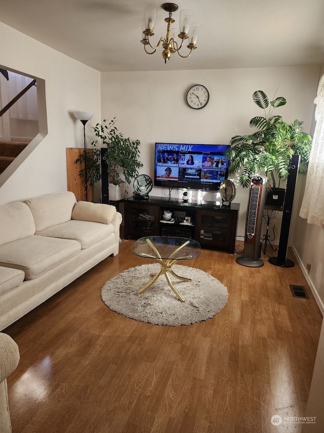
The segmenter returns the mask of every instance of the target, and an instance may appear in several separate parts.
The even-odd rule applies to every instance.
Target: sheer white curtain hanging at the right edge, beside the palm
[[[319,80],[314,104],[316,126],[299,215],[309,224],[324,228],[324,75]]]

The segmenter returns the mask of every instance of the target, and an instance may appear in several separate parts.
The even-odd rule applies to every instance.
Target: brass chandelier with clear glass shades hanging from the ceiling
[[[168,23],[167,26],[167,36],[165,38],[161,38],[156,47],[153,47],[150,43],[150,37],[154,35],[154,25],[156,20],[156,14],[157,10],[155,8],[145,8],[144,12],[144,20],[143,20],[143,39],[141,40],[141,43],[144,45],[144,50],[147,54],[154,54],[157,48],[160,44],[162,44],[164,50],[162,52],[162,56],[165,59],[165,63],[170,59],[171,54],[177,52],[180,57],[187,58],[190,56],[192,50],[195,50],[196,42],[197,42],[197,32],[198,28],[200,27],[200,24],[198,23],[191,23],[191,15],[192,11],[189,10],[182,10],[180,12],[180,34],[178,35],[178,38],[180,38],[181,43],[178,45],[177,41],[175,40],[174,34],[171,34],[171,25],[175,22],[175,20],[172,18],[172,12],[175,12],[178,10],[178,5],[175,3],[164,3],[162,6],[162,9],[164,9],[166,12],[169,12],[169,18],[166,18],[165,21]],[[187,48],[189,48],[190,52],[187,55],[181,55],[180,49],[183,46],[183,42],[189,39],[189,44],[187,45]],[[180,41],[179,41],[180,42]],[[147,45],[149,45],[154,51],[149,52],[147,51]]]

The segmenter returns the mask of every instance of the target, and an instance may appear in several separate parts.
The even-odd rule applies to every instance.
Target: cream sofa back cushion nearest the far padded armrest
[[[76,203],[73,192],[56,192],[30,198],[25,202],[34,217],[36,232],[69,221]]]

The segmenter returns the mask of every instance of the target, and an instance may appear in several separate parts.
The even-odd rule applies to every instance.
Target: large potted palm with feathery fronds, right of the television
[[[284,97],[279,96],[269,101],[262,90],[255,91],[252,97],[254,103],[264,110],[264,116],[253,117],[250,120],[250,127],[257,128],[253,134],[231,138],[231,148],[227,152],[229,174],[240,171],[239,183],[247,188],[255,174],[265,173],[270,189],[268,201],[271,193],[277,193],[278,189],[280,191],[281,181],[287,179],[289,163],[294,154],[300,155],[299,173],[307,173],[311,136],[303,131],[303,122],[294,120],[288,124],[281,116],[273,115],[275,108],[287,104]],[[281,190],[282,205],[285,189]]]

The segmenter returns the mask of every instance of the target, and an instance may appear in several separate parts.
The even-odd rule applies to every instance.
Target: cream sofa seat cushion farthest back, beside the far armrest
[[[40,236],[73,239],[80,243],[81,249],[96,244],[111,233],[113,233],[112,224],[78,220],[70,220],[36,232]]]

